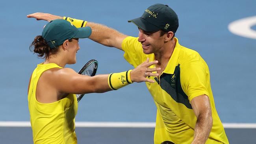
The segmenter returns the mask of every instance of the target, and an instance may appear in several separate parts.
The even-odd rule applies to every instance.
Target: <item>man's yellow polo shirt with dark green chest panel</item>
[[[193,140],[197,117],[190,104],[196,96],[209,96],[213,126],[206,144],[228,144],[223,125],[213,100],[210,72],[206,62],[194,50],[176,45],[173,54],[160,75],[150,77],[155,83],[146,83],[157,107],[154,143],[169,140],[175,144],[189,144]],[[146,61],[155,60],[154,54],[144,54],[136,37],[126,37],[122,42],[124,58],[134,67]],[[152,65],[151,67],[156,67]]]

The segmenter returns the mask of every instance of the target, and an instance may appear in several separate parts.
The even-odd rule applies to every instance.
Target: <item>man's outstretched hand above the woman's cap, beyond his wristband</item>
[[[28,18],[36,18],[37,20],[46,20],[50,22],[51,20],[63,19],[63,17],[52,15],[50,13],[32,13],[27,15]]]

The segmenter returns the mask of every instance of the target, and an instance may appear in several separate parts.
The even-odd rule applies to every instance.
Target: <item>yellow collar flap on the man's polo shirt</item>
[[[169,59],[169,62],[165,70],[163,71],[163,73],[166,73],[166,74],[174,74],[174,70],[175,70],[175,67],[177,66],[176,64],[180,54],[180,44],[178,42],[178,39],[174,37],[174,40],[176,41],[176,44],[173,50],[173,54],[171,55],[171,58]]]

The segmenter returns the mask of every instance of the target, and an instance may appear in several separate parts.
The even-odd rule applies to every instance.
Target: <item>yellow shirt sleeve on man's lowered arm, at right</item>
[[[199,54],[198,54],[199,55]],[[209,96],[208,87],[210,85],[209,69],[204,60],[200,57],[193,57],[181,68],[182,89],[188,96],[189,102],[197,96]]]

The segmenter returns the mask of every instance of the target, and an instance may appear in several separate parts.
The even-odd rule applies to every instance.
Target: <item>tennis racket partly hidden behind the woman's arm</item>
[[[86,75],[86,76],[95,76],[98,68],[98,61],[92,59],[88,61],[78,72],[78,74]],[[76,94],[77,102],[79,102],[83,98],[84,94]]]

